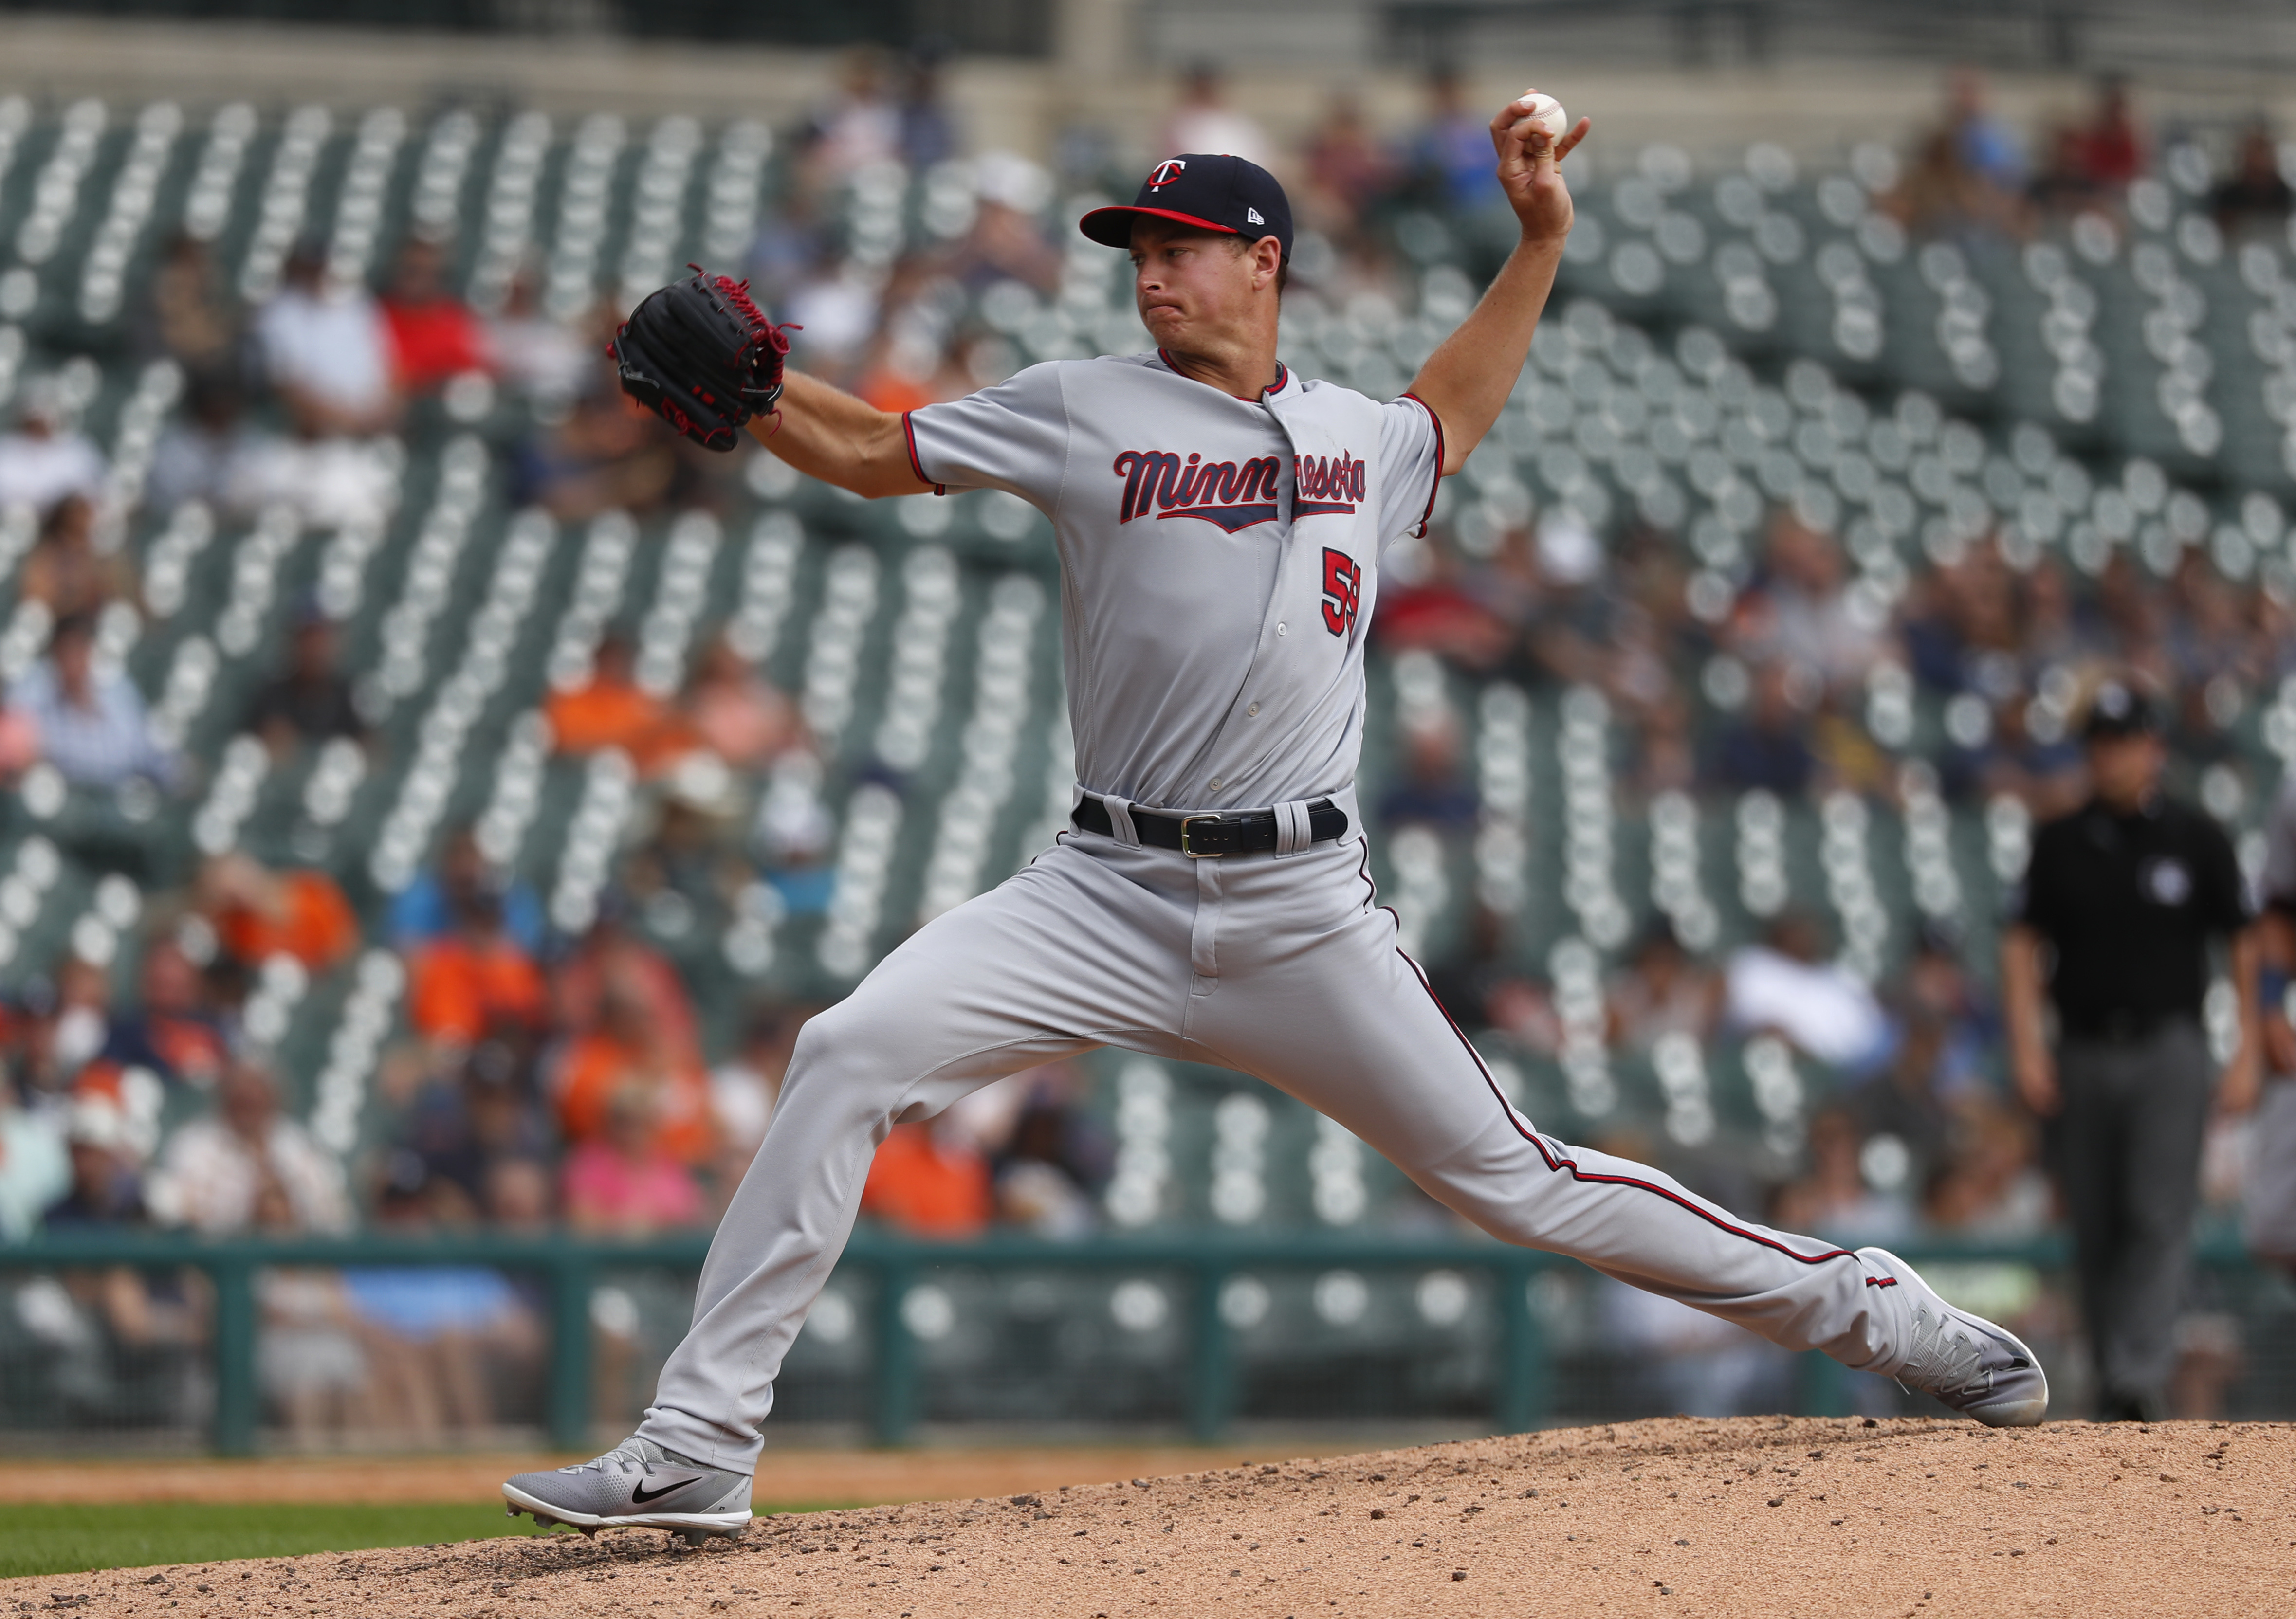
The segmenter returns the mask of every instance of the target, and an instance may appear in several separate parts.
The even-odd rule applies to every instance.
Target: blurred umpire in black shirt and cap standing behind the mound
[[[2050,1121],[2099,1417],[2149,1422],[2165,1415],[2211,1093],[2232,1111],[2257,1093],[2255,905],[2223,829],[2161,792],[2167,749],[2140,689],[2103,682],[2082,735],[2092,797],[2034,834],[2002,999],[2018,1093]],[[2216,939],[2241,994],[2223,1077],[2202,1031]]]

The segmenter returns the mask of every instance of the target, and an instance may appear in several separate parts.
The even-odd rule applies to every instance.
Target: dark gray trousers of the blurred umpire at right
[[[2158,1408],[2174,1369],[2211,1070],[2188,1017],[2131,1040],[2069,1036],[2057,1049],[2057,1178],[2108,1405]]]

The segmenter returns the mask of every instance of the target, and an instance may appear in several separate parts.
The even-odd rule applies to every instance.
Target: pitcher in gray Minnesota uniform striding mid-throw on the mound
[[[751,432],[863,496],[1008,489],[1052,519],[1077,737],[1072,829],[912,935],[806,1024],[643,1426],[510,1479],[512,1513],[737,1534],[774,1376],[838,1261],[870,1157],[1001,1075],[1120,1045],[1300,1098],[1506,1242],[1926,1389],[1993,1426],[2048,1382],[2002,1327],[1894,1254],[1770,1231],[1667,1176],[1543,1134],[1396,948],[1355,767],[1380,553],[1490,432],[1554,285],[1584,119],[1490,122],[1522,241],[1398,400],[1290,372],[1293,241],[1272,175],[1157,163],[1079,227],[1132,255],[1155,349],[1054,361],[889,416],[810,377],[742,287],[698,276],[618,340],[625,388],[689,436]]]

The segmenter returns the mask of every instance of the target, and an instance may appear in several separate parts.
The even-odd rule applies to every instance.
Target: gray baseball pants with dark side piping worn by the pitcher
[[[1343,806],[1357,822],[1352,797]],[[891,1125],[1100,1045],[1265,1079],[1495,1238],[1570,1254],[1786,1348],[1883,1373],[1910,1348],[1901,1288],[1869,1288],[1855,1254],[1738,1219],[1655,1169],[1538,1134],[1508,1107],[1396,948],[1359,834],[1226,859],[1065,834],[918,928],[804,1027],[703,1263],[693,1327],[638,1433],[753,1470],[781,1357]]]

